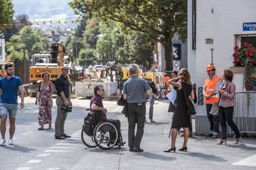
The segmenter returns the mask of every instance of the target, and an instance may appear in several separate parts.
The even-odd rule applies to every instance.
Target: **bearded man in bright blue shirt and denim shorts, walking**
[[[15,132],[15,119],[18,111],[18,91],[21,95],[20,107],[24,107],[24,91],[21,79],[14,76],[13,64],[7,63],[4,66],[6,76],[0,79],[0,118],[1,118],[1,142],[0,146],[5,145],[6,120],[9,116],[9,145],[14,145],[13,137]]]

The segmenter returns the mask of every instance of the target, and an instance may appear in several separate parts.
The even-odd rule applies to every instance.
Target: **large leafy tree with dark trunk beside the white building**
[[[183,42],[187,37],[187,0],[73,0],[75,13],[98,16],[122,23],[124,31],[145,33],[151,42],[161,42],[165,49],[166,69],[173,69],[172,38],[177,33]]]

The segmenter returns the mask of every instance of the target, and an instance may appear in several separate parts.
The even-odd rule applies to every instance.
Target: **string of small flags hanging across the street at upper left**
[[[74,17],[73,17],[74,18]],[[68,18],[67,18],[68,19]],[[81,17],[78,16],[78,18],[76,18],[75,20],[71,20],[71,23],[78,23],[79,21],[82,21],[81,20]],[[88,23],[89,21],[88,20],[85,20],[85,23]],[[41,21],[41,22],[31,22],[31,23],[10,23],[10,24],[1,24],[0,25],[0,30],[4,30],[6,28],[14,28],[14,27],[17,27],[17,28],[20,28],[21,26],[43,26],[43,25],[46,25],[46,24],[53,24],[53,23],[63,23],[63,24],[67,24],[67,21],[63,19],[59,19],[59,20],[52,20],[52,21]],[[97,22],[96,21],[93,21],[92,23],[94,26],[97,25]]]

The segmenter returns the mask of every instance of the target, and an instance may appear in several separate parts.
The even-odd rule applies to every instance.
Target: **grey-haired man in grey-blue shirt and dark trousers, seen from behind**
[[[140,143],[142,142],[146,119],[146,94],[151,96],[151,89],[144,79],[138,77],[139,66],[137,64],[129,65],[129,74],[131,78],[124,82],[123,88],[123,98],[127,100],[128,103],[129,151],[143,152],[144,150],[140,148]],[[137,132],[136,135],[134,135],[136,123]]]

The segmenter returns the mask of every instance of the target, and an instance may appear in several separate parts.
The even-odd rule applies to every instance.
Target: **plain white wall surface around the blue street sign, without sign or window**
[[[206,67],[211,62],[210,48],[213,47],[213,63],[216,74],[233,66],[235,35],[255,34],[243,31],[242,23],[256,22],[255,0],[197,0],[196,1],[196,50],[192,50],[192,1],[188,0],[188,70],[192,81],[203,86],[207,78]],[[212,13],[213,10],[213,13]],[[213,39],[213,45],[206,44]],[[235,82],[236,81],[236,82]],[[234,78],[241,91],[241,77]],[[206,115],[206,105],[196,105],[197,116]],[[199,125],[200,126],[200,125]]]

